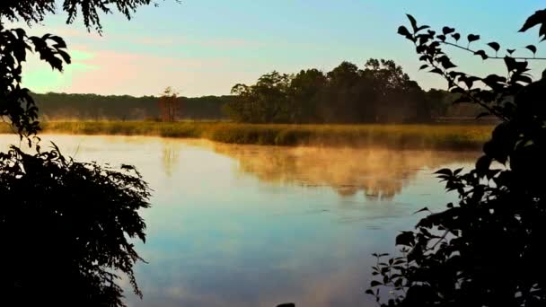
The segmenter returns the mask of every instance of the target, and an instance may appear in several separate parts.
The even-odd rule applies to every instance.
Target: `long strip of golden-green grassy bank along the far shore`
[[[206,138],[254,145],[379,145],[473,149],[488,138],[483,125],[251,125],[225,122],[72,121],[43,123],[45,133]],[[1,132],[11,130],[4,126]]]

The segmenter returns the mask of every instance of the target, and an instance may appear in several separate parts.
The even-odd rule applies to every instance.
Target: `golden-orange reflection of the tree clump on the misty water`
[[[239,169],[271,183],[328,186],[347,197],[363,191],[371,199],[391,199],[419,170],[451,162],[471,162],[475,153],[319,147],[215,145],[239,161]]]

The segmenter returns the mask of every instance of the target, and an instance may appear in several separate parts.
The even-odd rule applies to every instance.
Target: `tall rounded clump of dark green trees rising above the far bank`
[[[236,84],[232,94],[226,113],[249,123],[426,122],[442,103],[438,95],[428,97],[401,66],[383,59],[370,59],[363,69],[343,62],[327,74],[273,72],[253,85]]]

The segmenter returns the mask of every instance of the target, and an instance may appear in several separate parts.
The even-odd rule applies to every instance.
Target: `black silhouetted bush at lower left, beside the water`
[[[123,305],[119,273],[135,287],[140,260],[129,238],[145,240],[138,210],[149,189],[140,174],[66,159],[55,147],[0,153],[0,285],[21,306]]]

